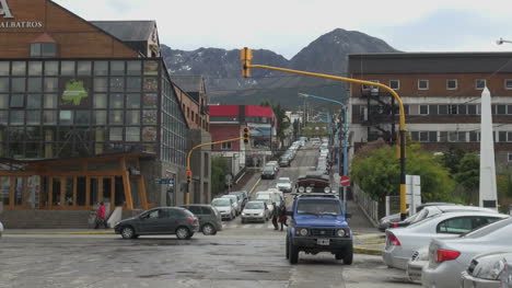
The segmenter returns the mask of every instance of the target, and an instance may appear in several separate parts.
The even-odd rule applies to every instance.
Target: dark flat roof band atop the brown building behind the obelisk
[[[348,58],[349,74],[512,72],[512,53],[379,53]]]

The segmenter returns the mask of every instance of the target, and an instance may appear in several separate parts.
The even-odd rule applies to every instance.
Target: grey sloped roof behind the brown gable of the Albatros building
[[[90,21],[94,26],[105,31],[123,42],[148,41],[153,33],[155,21]]]

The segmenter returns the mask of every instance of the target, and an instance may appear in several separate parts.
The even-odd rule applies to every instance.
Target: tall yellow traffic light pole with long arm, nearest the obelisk
[[[405,123],[405,110],[404,110],[404,103],[402,102],[400,96],[396,93],[395,90],[391,89],[387,85],[377,83],[377,82],[372,82],[372,81],[365,81],[365,80],[359,80],[359,79],[352,79],[352,78],[346,78],[346,77],[338,77],[338,76],[330,76],[330,74],[323,74],[323,73],[313,73],[313,72],[306,72],[306,71],[300,71],[300,70],[292,70],[292,69],[286,69],[286,68],[279,68],[279,67],[272,67],[272,66],[266,66],[266,65],[252,65],[251,61],[253,60],[253,50],[249,48],[243,48],[241,50],[240,59],[242,61],[242,76],[243,77],[251,77],[251,69],[253,68],[259,68],[259,69],[268,69],[268,70],[276,70],[276,71],[281,71],[281,72],[288,72],[288,73],[294,73],[294,74],[303,74],[303,76],[311,76],[311,77],[318,77],[318,78],[325,78],[325,79],[330,79],[330,80],[336,80],[336,81],[341,81],[341,82],[349,82],[349,83],[357,83],[357,84],[364,84],[364,85],[370,85],[370,87],[379,87],[387,92],[389,92],[396,100],[399,108],[399,129],[400,129],[400,218],[404,220],[406,218],[406,159],[405,159],[405,134],[406,134],[406,123]]]

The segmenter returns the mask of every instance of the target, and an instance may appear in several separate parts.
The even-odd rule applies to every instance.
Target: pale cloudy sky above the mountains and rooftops
[[[404,51],[512,51],[511,0],[54,0],[85,20],[156,20],[173,49],[271,49],[290,59],[335,28]]]

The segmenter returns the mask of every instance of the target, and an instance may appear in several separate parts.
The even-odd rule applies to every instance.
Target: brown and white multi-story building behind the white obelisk
[[[423,149],[479,150],[480,97],[490,90],[497,164],[512,161],[511,53],[397,53],[349,55],[351,78],[394,89],[405,105],[406,129]],[[386,91],[351,84],[353,147],[377,138],[396,141],[398,107]],[[353,151],[351,151],[353,152]]]

